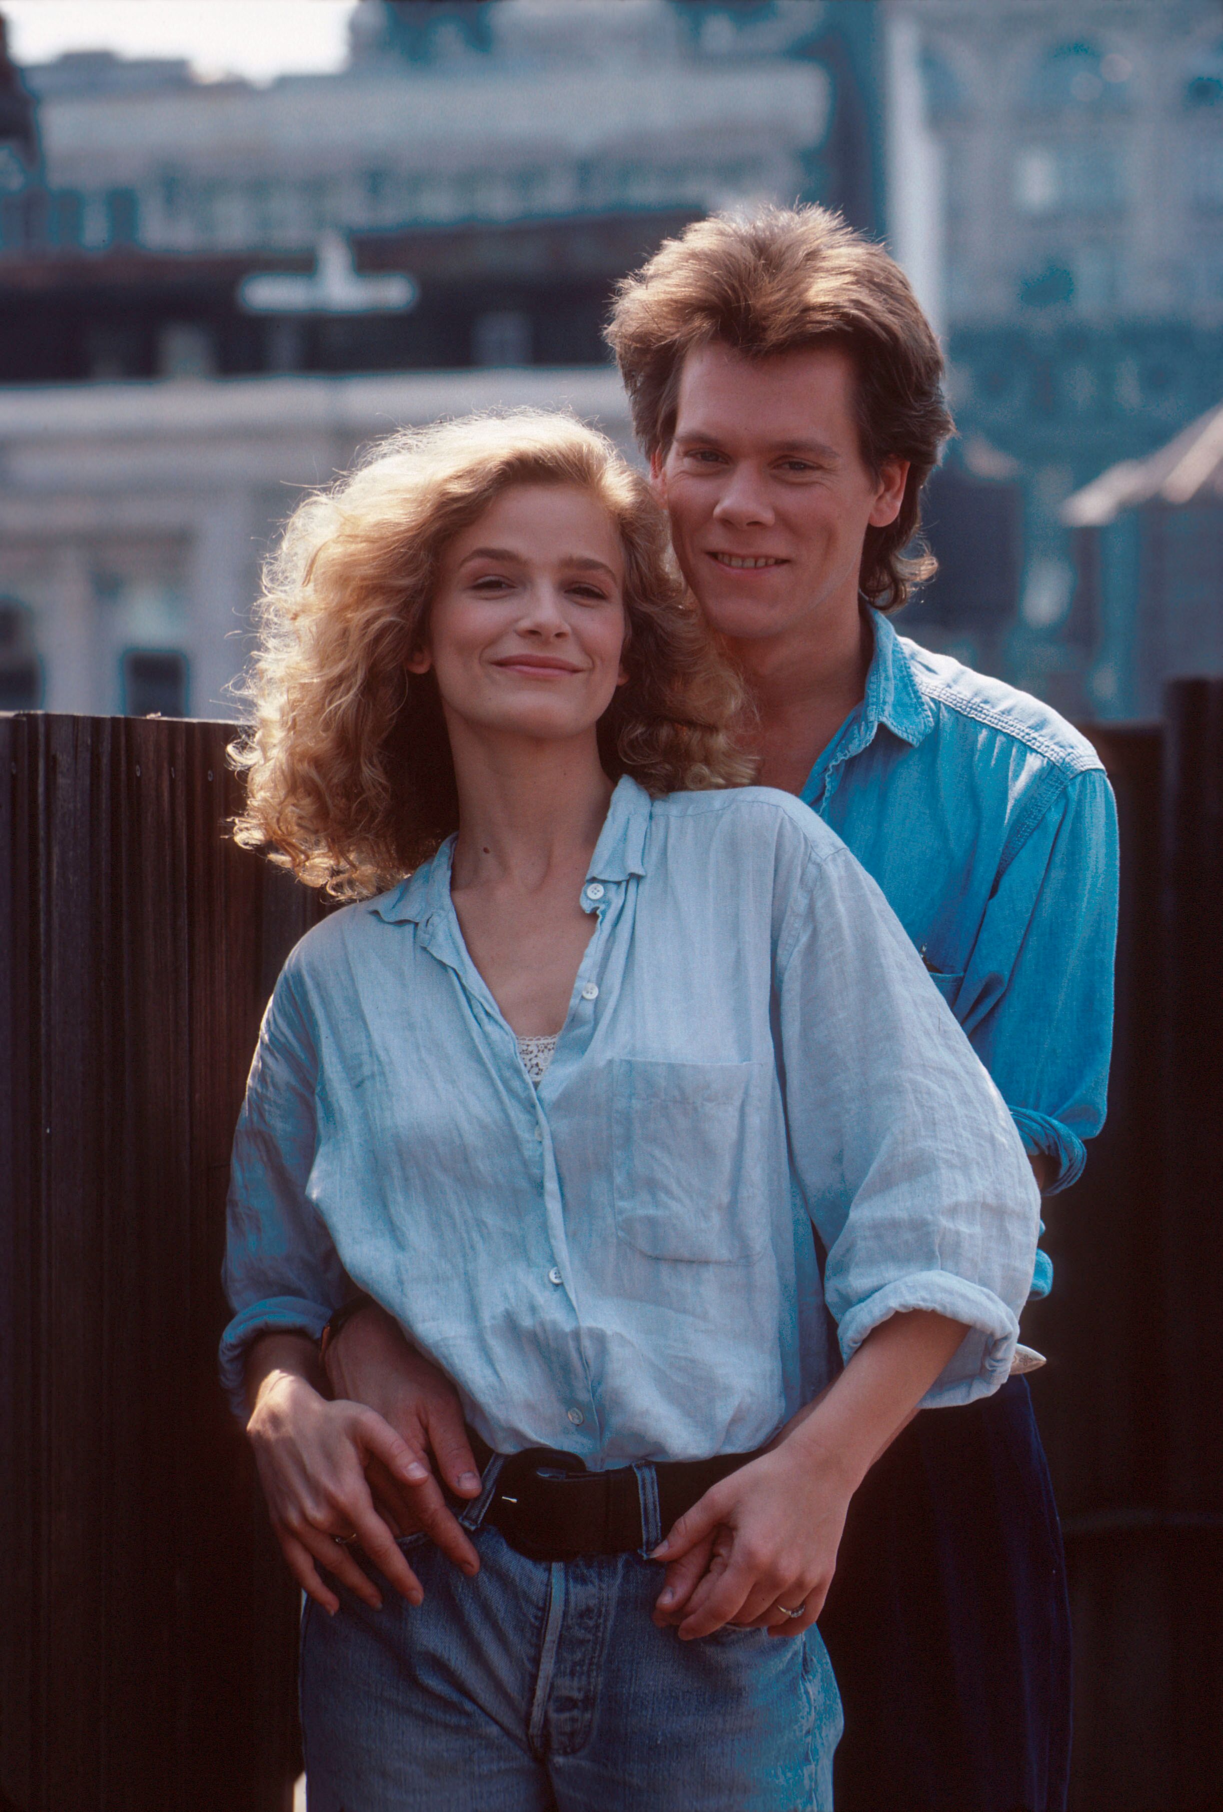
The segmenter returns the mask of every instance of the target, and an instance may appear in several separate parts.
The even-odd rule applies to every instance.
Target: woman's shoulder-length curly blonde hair
[[[629,678],[598,725],[607,774],[654,795],[752,779],[730,737],[743,687],[683,591],[645,480],[573,417],[467,415],[375,442],[288,518],[237,689],[254,707],[230,748],[246,774],[237,843],[337,899],[366,899],[458,828],[437,680],[406,663],[442,551],[518,484],[580,486],[620,535]]]

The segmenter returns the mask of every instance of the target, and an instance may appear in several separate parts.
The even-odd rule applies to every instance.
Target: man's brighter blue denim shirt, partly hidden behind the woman
[[[875,877],[997,1082],[1047,1190],[1103,1125],[1116,805],[1091,743],[1000,680],[870,612],[862,703],[803,797]],[[1033,1296],[1053,1267],[1036,1254]]]

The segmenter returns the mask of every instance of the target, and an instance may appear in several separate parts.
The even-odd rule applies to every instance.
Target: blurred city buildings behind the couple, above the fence
[[[612,284],[763,198],[948,346],[902,631],[1078,721],[1223,670],[1218,0],[355,0],[268,85],[0,43],[0,708],[234,716],[303,486],[489,404],[629,448]]]

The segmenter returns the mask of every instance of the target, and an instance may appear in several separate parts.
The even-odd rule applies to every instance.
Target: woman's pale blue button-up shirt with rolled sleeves
[[[882,893],[766,788],[616,786],[538,1091],[467,957],[451,844],[315,926],[234,1145],[223,1375],[351,1283],[500,1451],[587,1464],[766,1441],[904,1308],[969,1326],[926,1399],[1007,1373],[1038,1196]],[[821,1276],[823,1272],[823,1276]]]

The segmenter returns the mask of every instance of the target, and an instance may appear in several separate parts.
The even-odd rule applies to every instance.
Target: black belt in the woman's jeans
[[[484,1473],[493,1450],[473,1430],[467,1439]],[[719,1453],[710,1460],[654,1460],[658,1540],[710,1486],[757,1457]],[[531,1560],[625,1555],[649,1538],[632,1466],[592,1473],[576,1453],[556,1448],[525,1448],[506,1457],[484,1522],[498,1528],[509,1546]]]

